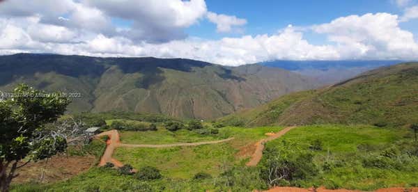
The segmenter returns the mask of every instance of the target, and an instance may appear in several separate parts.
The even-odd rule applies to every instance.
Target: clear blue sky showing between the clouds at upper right
[[[247,19],[246,35],[263,33],[277,33],[288,24],[296,26],[309,26],[332,21],[337,17],[347,15],[364,15],[366,13],[393,13],[402,15],[402,8],[396,6],[391,0],[293,0],[293,1],[206,1],[208,10],[215,13],[236,15]],[[418,32],[418,22],[411,21],[401,24],[403,29]],[[201,38],[238,37],[240,33],[219,34],[215,32],[216,26],[206,20],[189,27],[189,35]],[[322,43],[326,38],[323,35],[307,35],[307,38],[316,43]]]

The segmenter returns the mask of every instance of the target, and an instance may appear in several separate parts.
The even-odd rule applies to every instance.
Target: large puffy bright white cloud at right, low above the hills
[[[336,49],[343,58],[417,58],[414,35],[398,26],[397,15],[350,15],[313,29],[336,42]]]

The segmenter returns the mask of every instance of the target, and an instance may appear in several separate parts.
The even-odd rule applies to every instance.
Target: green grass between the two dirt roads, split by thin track
[[[211,141],[234,137],[228,143],[199,145],[195,147],[169,147],[163,149],[119,147],[114,157],[123,163],[130,163],[135,168],[155,166],[163,175],[172,178],[190,179],[199,172],[219,175],[225,168],[242,165],[246,159],[236,157],[239,148],[265,138],[265,133],[279,131],[281,127],[224,127],[219,136],[201,136],[194,131],[181,129],[170,132],[165,129],[146,132],[123,132],[123,143],[189,143]]]

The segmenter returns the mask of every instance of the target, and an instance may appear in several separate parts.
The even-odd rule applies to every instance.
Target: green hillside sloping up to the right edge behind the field
[[[401,126],[418,122],[418,63],[371,70],[318,90],[292,93],[220,119],[229,125],[316,123]]]

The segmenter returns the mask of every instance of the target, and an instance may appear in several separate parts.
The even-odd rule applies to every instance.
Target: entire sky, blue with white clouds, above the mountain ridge
[[[0,54],[418,60],[418,0],[6,0]]]

